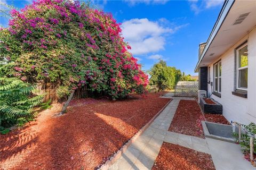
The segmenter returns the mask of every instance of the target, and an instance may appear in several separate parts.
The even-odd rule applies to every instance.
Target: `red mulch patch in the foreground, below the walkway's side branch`
[[[215,169],[209,154],[164,142],[152,170]]]

